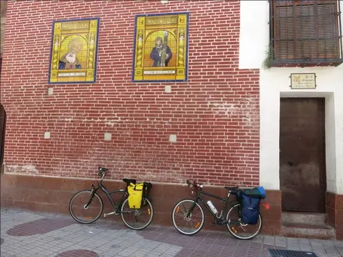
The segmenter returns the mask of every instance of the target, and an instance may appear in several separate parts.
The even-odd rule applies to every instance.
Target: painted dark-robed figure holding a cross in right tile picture
[[[151,51],[150,58],[153,59],[153,67],[168,66],[173,54],[170,47],[167,45],[168,32],[164,32],[164,43],[162,44],[162,38],[157,37],[155,39],[155,47]]]

